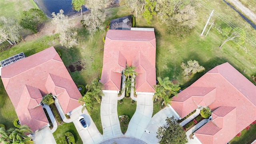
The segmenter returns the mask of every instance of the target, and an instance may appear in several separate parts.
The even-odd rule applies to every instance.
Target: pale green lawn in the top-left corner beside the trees
[[[33,0],[0,0],[0,16],[20,20],[22,12],[30,8],[38,8]]]

